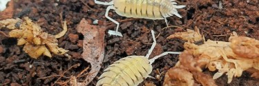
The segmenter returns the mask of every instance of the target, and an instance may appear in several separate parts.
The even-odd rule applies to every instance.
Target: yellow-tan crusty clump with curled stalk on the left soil
[[[58,47],[57,38],[66,33],[66,21],[64,22],[64,31],[54,36],[41,30],[39,25],[32,23],[28,17],[21,19],[6,19],[0,21],[0,28],[6,27],[12,29],[9,32],[10,37],[18,39],[17,45],[24,45],[23,50],[32,58],[38,58],[41,54],[52,57],[54,54],[65,54],[68,50]]]

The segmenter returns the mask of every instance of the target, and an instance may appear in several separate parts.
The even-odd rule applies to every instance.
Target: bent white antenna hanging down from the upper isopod
[[[108,6],[107,9],[106,9],[106,12],[105,12],[105,17],[111,21],[113,21],[113,23],[116,23],[117,24],[117,27],[116,27],[116,31],[113,31],[113,30],[108,30],[108,34],[111,34],[111,35],[116,35],[116,36],[122,36],[122,33],[118,32],[119,30],[119,22],[118,21],[115,21],[114,19],[111,19],[111,17],[108,17],[108,12],[109,10],[111,9],[115,9],[114,6]]]

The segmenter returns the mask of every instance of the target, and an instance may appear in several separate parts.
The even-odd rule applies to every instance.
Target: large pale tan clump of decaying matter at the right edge
[[[231,36],[229,42],[208,40],[202,45],[187,42],[184,43],[184,48],[186,50],[180,54],[180,61],[175,67],[186,69],[192,74],[201,73],[204,68],[209,68],[210,71],[218,70],[213,79],[227,74],[227,83],[231,83],[233,77],[241,76],[247,69],[254,69],[252,76],[258,77],[259,41],[256,39]],[[168,73],[181,76],[173,71]],[[168,80],[170,79],[165,79],[164,82],[169,82]],[[213,83],[213,80],[200,79],[205,82],[204,80]]]

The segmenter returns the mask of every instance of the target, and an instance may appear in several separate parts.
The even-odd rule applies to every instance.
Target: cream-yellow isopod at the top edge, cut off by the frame
[[[177,6],[175,0],[113,0],[111,2],[102,2],[95,0],[95,3],[109,5],[106,9],[105,17],[117,24],[116,31],[109,30],[112,35],[122,36],[118,32],[119,23],[111,17],[108,17],[108,11],[114,9],[115,12],[123,17],[133,17],[142,19],[164,19],[168,26],[166,17],[171,17],[173,14],[180,17],[178,8],[185,6]]]

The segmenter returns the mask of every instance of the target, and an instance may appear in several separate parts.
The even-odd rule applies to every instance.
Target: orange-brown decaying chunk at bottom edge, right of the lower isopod
[[[182,52],[178,65],[166,72],[164,86],[217,86],[210,75],[200,72],[201,65],[193,62],[195,62],[195,59],[189,52]]]

